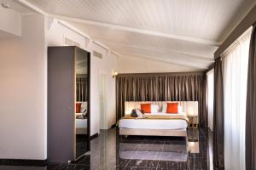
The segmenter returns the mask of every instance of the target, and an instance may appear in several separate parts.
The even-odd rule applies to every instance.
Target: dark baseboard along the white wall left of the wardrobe
[[[47,160],[0,159],[0,165],[44,167]]]

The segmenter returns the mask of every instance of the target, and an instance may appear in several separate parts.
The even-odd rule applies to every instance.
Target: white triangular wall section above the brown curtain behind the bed
[[[183,65],[174,65],[165,61],[121,56],[118,59],[119,73],[149,73],[149,72],[186,72],[195,71]]]

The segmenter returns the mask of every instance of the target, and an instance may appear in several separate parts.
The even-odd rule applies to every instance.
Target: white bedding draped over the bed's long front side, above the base
[[[154,120],[154,119],[121,119],[121,128],[142,128],[142,129],[185,129],[188,124],[184,120]]]

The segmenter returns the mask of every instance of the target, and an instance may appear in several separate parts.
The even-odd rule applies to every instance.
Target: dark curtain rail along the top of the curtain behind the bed
[[[118,74],[117,77],[192,76],[192,75],[205,75],[205,72],[195,71],[195,72],[160,72],[160,73],[124,73],[124,74]]]

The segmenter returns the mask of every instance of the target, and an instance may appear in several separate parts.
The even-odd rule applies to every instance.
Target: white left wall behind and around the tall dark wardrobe
[[[117,56],[54,20],[23,16],[22,37],[0,37],[0,159],[47,158],[47,46],[64,45],[64,37],[103,57],[91,57],[91,135],[99,133],[99,73],[107,76],[108,127],[115,122]]]

